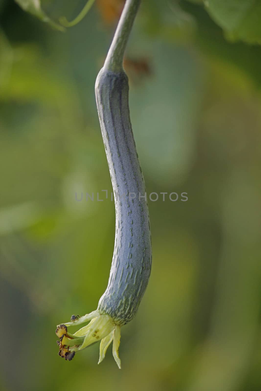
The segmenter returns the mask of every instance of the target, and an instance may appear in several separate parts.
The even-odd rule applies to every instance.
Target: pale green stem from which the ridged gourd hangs
[[[126,0],[104,63],[104,69],[112,72],[121,72],[123,70],[123,56],[140,1],[141,0]]]

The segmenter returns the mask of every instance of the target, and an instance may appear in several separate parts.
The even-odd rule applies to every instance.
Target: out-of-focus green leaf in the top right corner
[[[261,44],[261,1],[205,0],[204,4],[228,39]]]

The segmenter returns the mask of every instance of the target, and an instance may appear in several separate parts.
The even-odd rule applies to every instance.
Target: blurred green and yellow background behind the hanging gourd
[[[94,84],[120,3],[62,33],[0,1],[0,389],[260,391],[261,48],[226,41],[195,1],[144,0],[126,53],[147,192],[188,201],[149,201],[122,369],[111,347],[97,365],[98,344],[58,356],[56,325],[95,310],[110,272],[114,203],[75,193],[112,191]]]

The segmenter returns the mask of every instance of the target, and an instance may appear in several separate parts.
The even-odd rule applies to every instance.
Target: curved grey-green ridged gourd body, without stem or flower
[[[136,315],[151,272],[148,203],[131,129],[128,77],[102,68],[95,95],[116,211],[110,278],[98,309],[124,325]]]

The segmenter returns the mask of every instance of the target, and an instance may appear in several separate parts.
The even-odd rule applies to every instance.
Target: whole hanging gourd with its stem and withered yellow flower
[[[113,357],[121,368],[121,326],[136,315],[151,271],[151,236],[146,190],[130,122],[128,78],[124,50],[140,0],[127,0],[112,45],[95,83],[103,142],[115,199],[115,246],[108,287],[97,310],[72,316],[57,326],[59,355],[71,360],[75,352],[101,340],[99,363],[113,341]],[[67,326],[90,321],[74,334]]]

